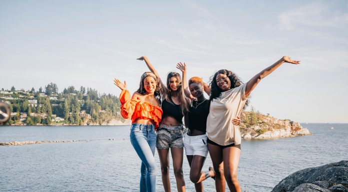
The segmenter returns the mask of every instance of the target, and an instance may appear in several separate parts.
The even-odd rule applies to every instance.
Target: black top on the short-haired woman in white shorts
[[[189,108],[188,112],[188,129],[206,132],[206,119],[209,114],[209,104],[209,100],[192,101],[192,106]]]

